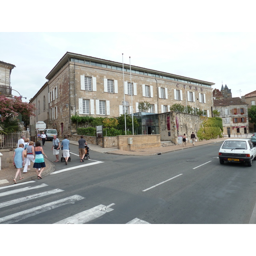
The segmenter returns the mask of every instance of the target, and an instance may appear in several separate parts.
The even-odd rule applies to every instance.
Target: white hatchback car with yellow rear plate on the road
[[[256,160],[256,146],[250,139],[225,140],[219,150],[221,164],[225,161],[231,163],[247,163],[252,166],[252,160]]]

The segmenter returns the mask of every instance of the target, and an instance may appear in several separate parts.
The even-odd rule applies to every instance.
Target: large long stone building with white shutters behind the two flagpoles
[[[139,103],[144,101],[151,104],[150,113],[165,113],[171,105],[180,103],[212,116],[214,83],[207,81],[137,66],[131,66],[130,81],[128,64],[124,64],[123,74],[122,63],[71,52],[58,61],[46,79],[48,128],[56,128],[60,136],[75,132],[72,115],[117,117],[125,111],[138,112]]]

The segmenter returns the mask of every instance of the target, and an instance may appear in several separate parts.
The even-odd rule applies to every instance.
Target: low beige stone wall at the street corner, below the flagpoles
[[[128,138],[132,138],[132,144],[128,144]],[[117,136],[117,148],[121,150],[131,151],[140,148],[154,148],[160,146],[160,134]]]

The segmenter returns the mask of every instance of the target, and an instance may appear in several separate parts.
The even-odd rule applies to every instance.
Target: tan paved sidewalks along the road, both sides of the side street
[[[117,147],[102,148],[99,145],[93,145],[93,144],[89,144],[89,143],[88,143],[88,146],[90,148],[90,151],[96,151],[99,153],[140,157],[140,156],[145,156],[145,155],[159,155],[159,154],[170,153],[170,152],[178,151],[178,150],[195,148],[195,147],[198,147],[201,145],[223,142],[224,140],[227,140],[227,139],[238,139],[238,138],[240,138],[240,139],[249,138],[250,139],[251,136],[252,136],[252,134],[248,134],[247,137],[245,137],[245,136],[230,137],[230,138],[224,137],[224,138],[219,138],[219,139],[214,139],[214,140],[204,140],[204,141],[196,142],[195,146],[193,146],[192,143],[186,143],[186,146],[172,145],[172,146],[157,147],[157,148],[142,148],[142,149],[137,149],[134,151],[120,150],[120,149],[117,149]],[[60,141],[61,140],[62,139],[60,139]],[[188,140],[188,141],[190,141],[190,140]],[[78,146],[78,142],[74,141],[74,140],[70,140],[70,144]],[[216,157],[217,157],[217,153],[216,153]],[[51,173],[54,170],[54,165],[52,164],[52,162],[50,162],[47,159],[44,159],[44,160],[45,160],[46,167],[44,169],[44,172],[42,173],[42,176],[48,175],[49,173]],[[4,169],[2,168],[2,170],[0,170],[0,187],[12,185],[14,183],[13,179],[15,177],[16,171],[17,171],[17,169],[14,166],[9,167],[9,168],[4,168]],[[23,169],[21,169],[21,173],[22,172],[23,172]],[[25,178],[23,180],[17,180],[17,183],[37,179],[35,169],[32,168],[32,165],[30,166],[30,170],[26,174],[22,173],[22,176]]]

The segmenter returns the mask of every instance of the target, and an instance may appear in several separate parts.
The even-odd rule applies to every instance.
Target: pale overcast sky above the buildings
[[[0,60],[14,64],[11,86],[28,101],[66,52],[227,84],[233,97],[256,90],[256,33],[1,32]],[[18,93],[13,92],[18,96]],[[23,99],[24,101],[25,99]]]

